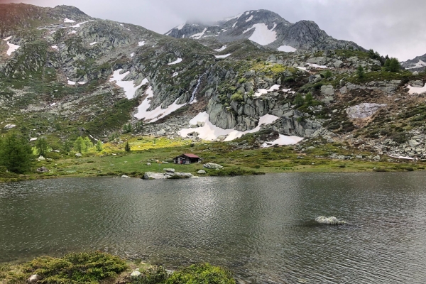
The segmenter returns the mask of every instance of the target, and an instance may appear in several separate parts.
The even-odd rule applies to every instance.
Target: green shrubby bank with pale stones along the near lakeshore
[[[131,273],[136,271],[136,273]],[[37,275],[37,276],[33,276]],[[28,281],[33,276],[33,282]],[[178,271],[131,263],[101,251],[69,253],[62,258],[42,256],[21,264],[0,264],[0,283],[131,283],[131,284],[235,284],[225,268],[199,263]]]

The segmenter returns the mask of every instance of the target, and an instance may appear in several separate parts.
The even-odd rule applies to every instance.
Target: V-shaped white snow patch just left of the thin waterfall
[[[173,102],[173,104],[170,104],[167,109],[161,109],[161,106],[157,107],[153,111],[148,111],[149,107],[151,107],[151,98],[154,97],[153,88],[150,86],[146,90],[146,94],[148,96],[143,100],[142,104],[138,107],[138,113],[135,114],[135,117],[137,119],[145,119],[149,122],[155,122],[158,121],[158,119],[162,119],[165,116],[168,116],[173,111],[180,109],[181,107],[184,107],[186,104],[177,104],[178,99]]]

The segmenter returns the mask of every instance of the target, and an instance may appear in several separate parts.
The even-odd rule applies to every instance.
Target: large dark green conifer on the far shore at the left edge
[[[10,133],[0,141],[0,165],[13,173],[26,173],[33,163],[33,150],[27,138]]]

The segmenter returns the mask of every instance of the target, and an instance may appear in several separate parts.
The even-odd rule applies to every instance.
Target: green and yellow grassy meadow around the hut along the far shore
[[[146,172],[163,172],[164,168],[174,168],[177,172],[197,175],[203,163],[217,163],[223,170],[206,170],[206,175],[256,175],[263,173],[288,172],[366,172],[366,171],[413,171],[424,170],[426,163],[413,163],[381,157],[379,161],[368,160],[376,154],[359,151],[344,144],[306,144],[303,148],[279,146],[272,148],[239,149],[241,143],[250,143],[251,136],[229,142],[199,142],[152,136],[123,136],[121,141],[104,144],[101,152],[89,151],[77,157],[75,153],[48,153],[46,160],[35,162],[34,168],[45,166],[48,173],[28,173],[15,175],[0,173],[2,181],[17,181],[40,178],[121,176],[141,178]],[[131,151],[124,151],[129,141]],[[195,153],[203,163],[175,165],[173,158],[182,153]],[[332,154],[346,157],[362,156],[366,160],[336,160],[328,158]]]

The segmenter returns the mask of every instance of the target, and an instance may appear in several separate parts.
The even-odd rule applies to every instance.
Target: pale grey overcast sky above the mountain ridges
[[[426,0],[0,0],[38,6],[71,5],[89,16],[158,33],[187,20],[218,21],[268,9],[291,23],[315,21],[334,38],[408,60],[426,53]]]

